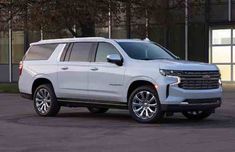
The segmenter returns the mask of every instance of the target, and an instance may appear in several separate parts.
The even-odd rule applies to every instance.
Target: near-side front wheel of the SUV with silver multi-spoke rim
[[[151,86],[135,89],[129,97],[128,109],[132,118],[140,123],[157,122],[164,115],[157,91]]]

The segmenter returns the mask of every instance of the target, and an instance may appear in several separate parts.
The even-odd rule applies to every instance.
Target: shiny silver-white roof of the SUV
[[[107,39],[104,37],[84,37],[84,38],[63,38],[63,39],[48,39],[41,40],[30,45],[40,45],[40,44],[53,44],[53,43],[71,43],[79,41],[116,41],[116,42],[143,42],[140,39]]]

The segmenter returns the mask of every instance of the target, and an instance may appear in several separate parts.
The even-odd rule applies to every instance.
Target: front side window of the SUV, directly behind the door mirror
[[[107,56],[110,54],[119,54],[119,52],[112,44],[99,43],[95,62],[107,62]]]

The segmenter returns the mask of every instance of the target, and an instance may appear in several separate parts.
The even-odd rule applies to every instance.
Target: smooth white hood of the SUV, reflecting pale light
[[[187,70],[187,71],[215,71],[218,70],[217,66],[214,64],[185,61],[185,60],[154,60],[152,61],[159,65],[160,69],[169,70]]]

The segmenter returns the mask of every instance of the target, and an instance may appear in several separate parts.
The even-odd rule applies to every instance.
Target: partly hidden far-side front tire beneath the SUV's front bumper
[[[190,120],[203,120],[212,114],[211,110],[207,111],[185,111],[182,114]]]

